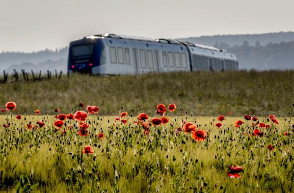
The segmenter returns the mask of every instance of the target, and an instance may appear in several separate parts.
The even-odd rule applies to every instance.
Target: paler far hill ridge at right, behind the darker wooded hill
[[[260,45],[265,46],[268,43],[281,43],[294,41],[294,32],[277,32],[262,34],[237,34],[237,35],[212,35],[200,37],[178,38],[180,40],[189,41],[197,44],[214,46],[216,43],[225,42],[230,46],[242,45],[247,41],[249,45],[255,45],[259,41]]]

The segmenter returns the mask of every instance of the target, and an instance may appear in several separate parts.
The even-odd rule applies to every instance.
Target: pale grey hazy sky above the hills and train
[[[0,0],[0,52],[99,33],[178,38],[294,31],[294,0]]]

